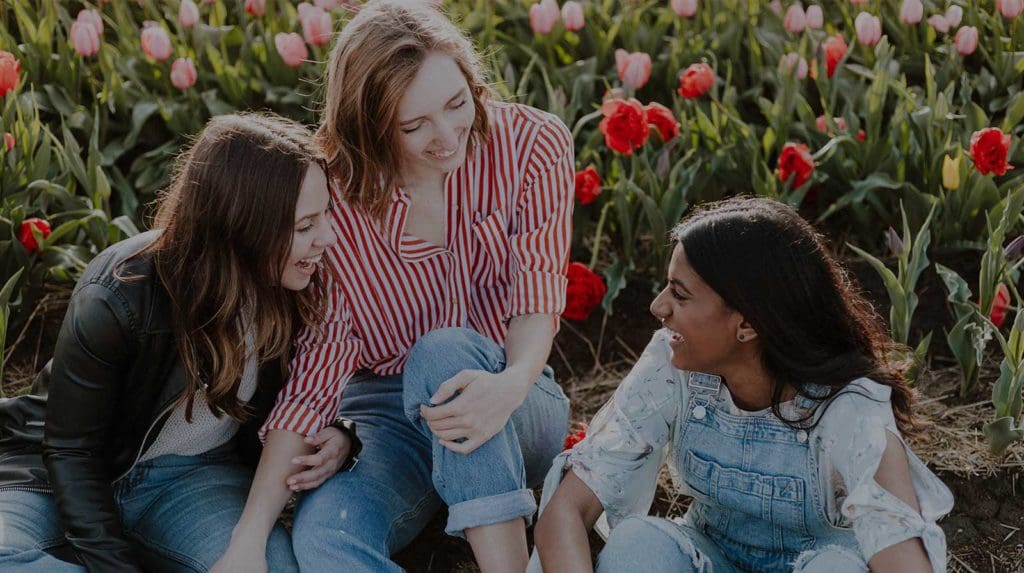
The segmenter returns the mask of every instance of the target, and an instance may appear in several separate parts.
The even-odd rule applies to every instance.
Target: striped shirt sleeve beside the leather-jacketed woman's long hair
[[[326,319],[304,327],[295,344],[288,383],[260,428],[261,441],[271,430],[309,436],[338,414],[341,393],[359,368],[362,343],[352,334],[351,315],[341,289],[328,283]]]

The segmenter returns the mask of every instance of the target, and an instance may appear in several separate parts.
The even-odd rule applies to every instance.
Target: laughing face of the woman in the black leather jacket
[[[292,251],[281,274],[282,286],[301,291],[323,261],[324,252],[337,241],[331,227],[329,210],[331,192],[327,175],[313,163],[306,169],[306,176],[295,203],[295,228],[292,231]]]

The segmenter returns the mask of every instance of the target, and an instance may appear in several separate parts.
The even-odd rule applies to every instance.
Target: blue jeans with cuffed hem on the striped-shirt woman
[[[550,368],[490,440],[469,454],[442,447],[420,418],[420,404],[464,369],[500,372],[505,351],[468,328],[419,339],[402,374],[357,376],[341,400],[355,421],[362,455],[300,498],[292,536],[303,571],[400,571],[390,556],[406,546],[441,503],[445,532],[529,518],[540,484],[562,449],[568,400]]]

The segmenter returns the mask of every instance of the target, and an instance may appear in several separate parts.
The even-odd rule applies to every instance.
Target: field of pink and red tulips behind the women
[[[775,197],[871,282],[911,376],[948,367],[944,403],[986,404],[986,455],[1019,472],[1024,0],[432,3],[483,51],[497,97],[572,131],[568,330],[644,312],[692,206]],[[316,123],[358,4],[0,5],[0,389],[23,386],[10,368],[40,352],[28,334],[51,294],[146,227],[206,120]]]

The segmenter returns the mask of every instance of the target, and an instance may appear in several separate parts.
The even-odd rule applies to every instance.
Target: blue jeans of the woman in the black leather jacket
[[[148,571],[209,571],[227,549],[252,479],[231,442],[200,455],[162,455],[137,465],[115,484],[114,496],[141,565]],[[40,550],[62,541],[51,495],[0,492],[0,570],[17,564],[11,570],[85,571]],[[281,524],[267,539],[266,559],[274,573],[298,571]]]

